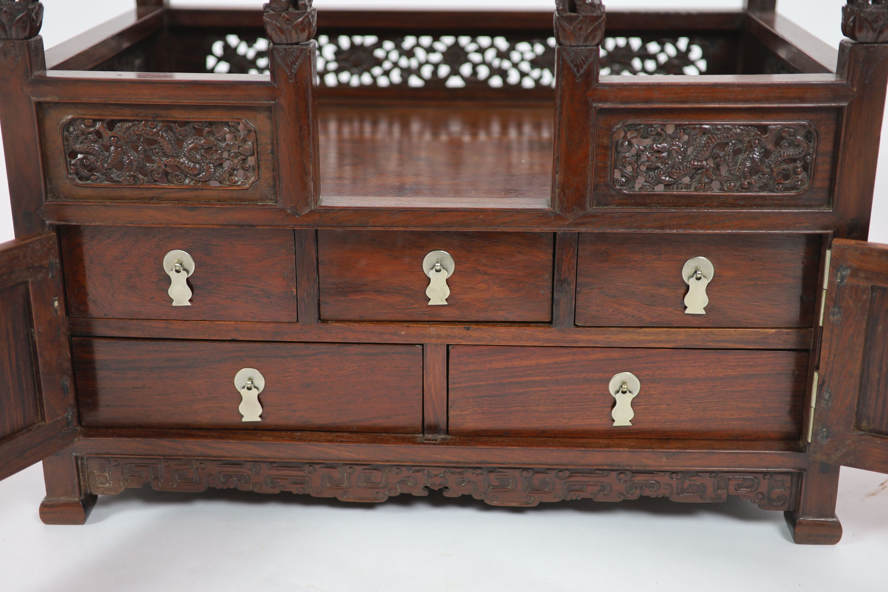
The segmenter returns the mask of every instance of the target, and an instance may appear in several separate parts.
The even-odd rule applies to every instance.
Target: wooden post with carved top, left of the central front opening
[[[296,216],[317,204],[321,176],[314,68],[317,15],[312,0],[272,0],[266,4],[272,82],[281,90],[281,98],[274,104],[274,151],[281,163],[278,202]]]

